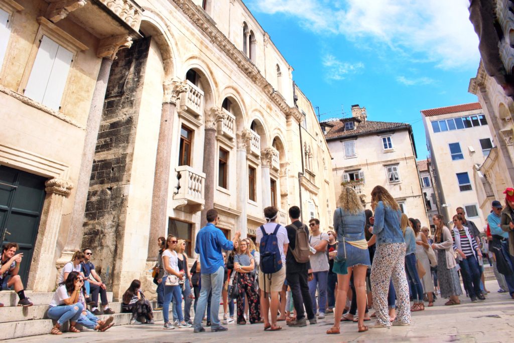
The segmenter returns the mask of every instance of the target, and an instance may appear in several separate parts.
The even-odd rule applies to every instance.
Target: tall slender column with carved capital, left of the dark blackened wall
[[[77,190],[75,192],[75,203],[71,212],[68,239],[66,240],[60,260],[64,259],[65,261],[69,261],[69,257],[73,254],[73,251],[80,248],[87,192],[89,190],[89,178],[91,177],[98,131],[102,120],[107,81],[109,80],[113,61],[116,59],[116,53],[121,48],[130,48],[131,45],[132,38],[128,35],[121,35],[102,40],[97,51],[97,56],[102,59],[102,64],[98,72],[95,91],[93,92],[93,99],[91,99],[91,107],[87,117],[84,148],[82,149],[82,162],[77,181]],[[55,249],[55,247],[53,249]]]

